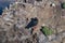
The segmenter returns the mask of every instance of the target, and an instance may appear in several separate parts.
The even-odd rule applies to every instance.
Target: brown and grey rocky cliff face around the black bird
[[[65,18],[62,16],[60,2],[54,1],[55,6],[51,6],[50,1],[10,4],[3,10],[0,16],[0,43],[61,43],[65,38]],[[31,18],[38,18],[38,25],[32,34],[31,29],[26,29],[26,25]],[[42,25],[51,28],[54,33],[46,37],[40,31]]]

